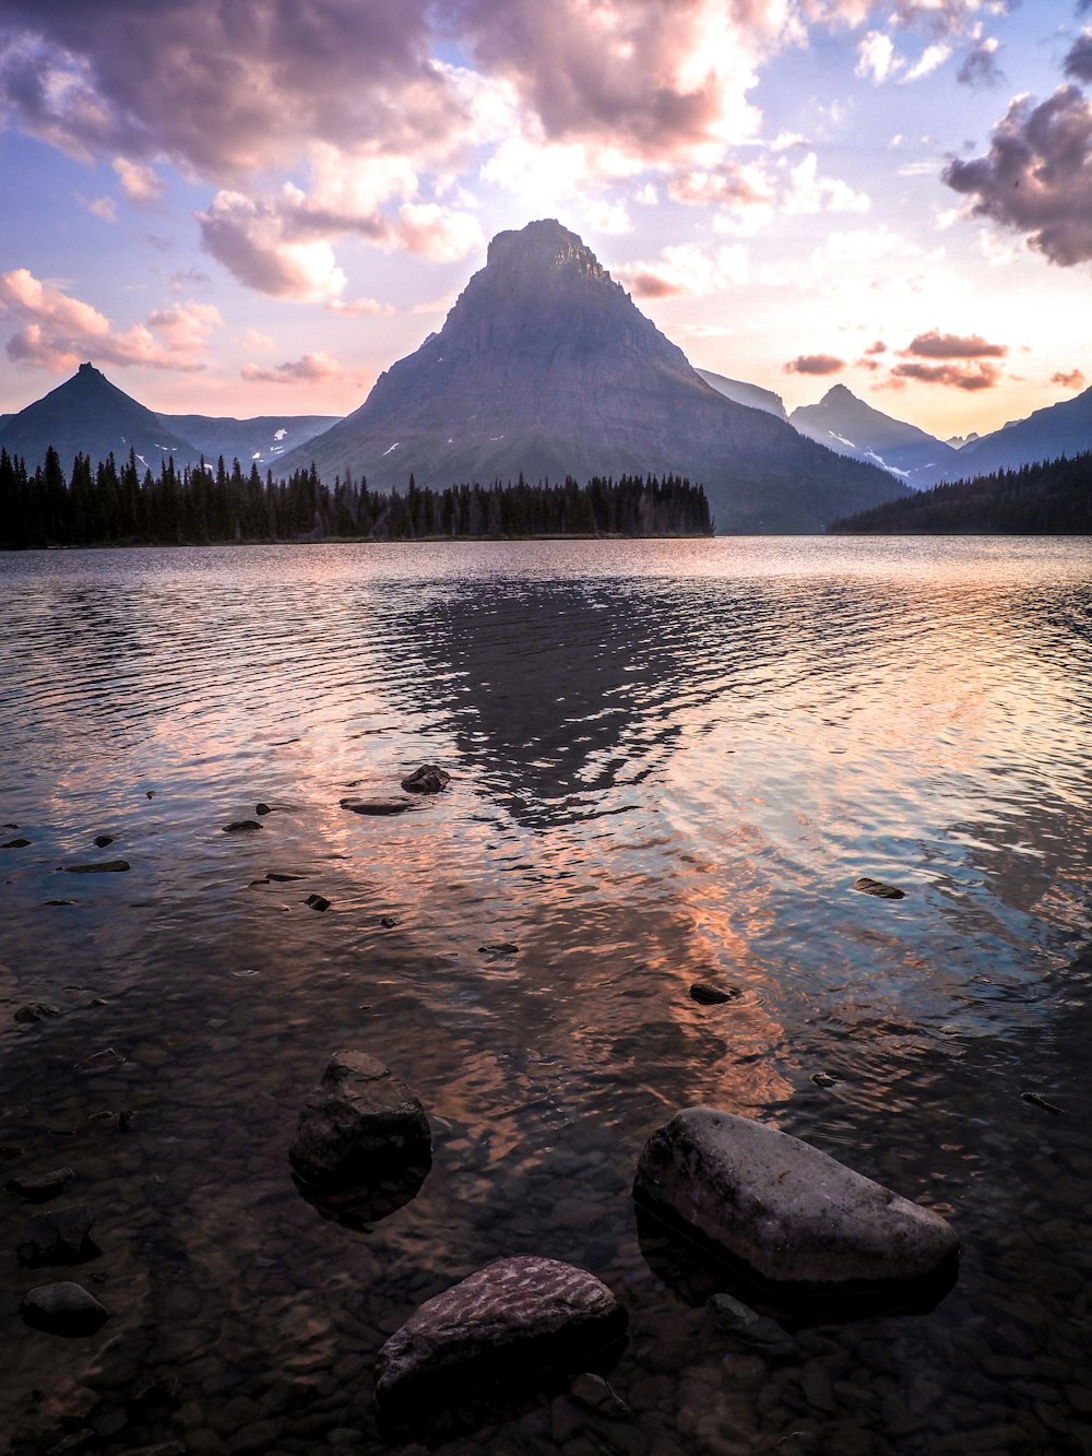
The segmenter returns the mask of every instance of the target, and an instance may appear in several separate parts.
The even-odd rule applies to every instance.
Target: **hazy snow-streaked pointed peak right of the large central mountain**
[[[949,444],[917,425],[907,425],[866,405],[844,384],[827,390],[818,405],[794,409],[789,424],[808,440],[855,460],[882,466],[917,489],[941,479],[957,454]]]

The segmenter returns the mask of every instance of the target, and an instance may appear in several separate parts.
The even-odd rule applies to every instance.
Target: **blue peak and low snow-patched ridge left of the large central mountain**
[[[248,464],[278,460],[290,446],[304,444],[329,430],[338,415],[259,415],[255,419],[215,419],[207,415],[156,415],[92,364],[80,364],[71,379],[16,415],[0,416],[0,447],[22,456],[33,469],[50,446],[67,470],[77,454],[92,462],[111,453],[118,463],[135,450],[153,473],[172,456],[176,466],[214,464],[223,456]]]

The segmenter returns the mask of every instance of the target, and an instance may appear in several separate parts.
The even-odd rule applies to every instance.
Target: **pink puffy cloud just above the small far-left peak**
[[[89,303],[35,278],[26,268],[0,275],[0,316],[17,328],[7,357],[41,368],[71,368],[82,360],[102,364],[143,364],[163,370],[204,368],[208,335],[223,323],[208,303],[157,309],[143,323],[114,328]]]

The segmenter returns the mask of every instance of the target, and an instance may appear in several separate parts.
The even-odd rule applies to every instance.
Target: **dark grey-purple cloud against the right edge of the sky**
[[[1026,234],[1060,266],[1092,261],[1092,103],[1061,86],[1034,105],[1016,98],[984,157],[949,162],[942,179],[971,213]]]

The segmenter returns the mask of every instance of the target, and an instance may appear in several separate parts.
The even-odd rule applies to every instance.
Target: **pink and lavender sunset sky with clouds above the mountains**
[[[489,239],[948,438],[1092,384],[1092,0],[0,0],[0,412],[341,415]]]

